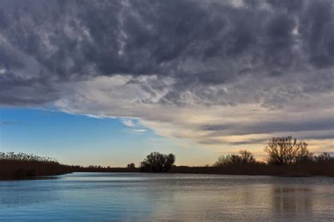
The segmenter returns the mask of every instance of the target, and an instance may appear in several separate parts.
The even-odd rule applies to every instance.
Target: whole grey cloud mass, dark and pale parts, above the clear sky
[[[0,104],[170,123],[209,133],[172,133],[206,145],[333,130],[333,1],[229,2],[0,1]],[[168,112],[196,105],[318,112],[204,126]],[[245,143],[264,141],[230,145]]]

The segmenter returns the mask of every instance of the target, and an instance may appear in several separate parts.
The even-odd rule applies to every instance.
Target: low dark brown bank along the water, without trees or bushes
[[[75,172],[95,173],[147,173],[139,168],[128,169],[125,167],[99,167],[89,168],[82,166],[68,166],[63,164],[38,164],[32,169],[32,163],[7,162],[7,166],[16,165],[16,169],[4,174],[4,162],[0,162],[0,181],[38,179],[44,176],[59,176]],[[26,167],[24,165],[27,165]],[[313,166],[312,166],[313,165]],[[23,168],[25,167],[25,168]],[[6,168],[8,169],[8,167]],[[283,177],[313,177],[313,176],[334,176],[334,164],[297,164],[291,166],[272,166],[267,164],[234,164],[231,166],[173,166],[165,173],[158,174],[211,174],[211,175],[235,175],[235,176],[283,176]],[[151,174],[151,173],[149,173]]]

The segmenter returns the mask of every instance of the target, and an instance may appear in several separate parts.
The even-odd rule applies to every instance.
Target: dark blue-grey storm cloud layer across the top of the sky
[[[248,75],[314,77],[301,81],[303,89],[292,96],[331,90],[333,18],[330,0],[242,6],[195,0],[1,1],[0,103],[52,102],[63,96],[63,84],[115,74],[173,78],[172,90],[159,100],[168,105],[187,105],[184,91],[206,105],[235,105],[223,92],[201,87],[233,84]],[[323,68],[327,71],[318,72]],[[264,105],[283,103],[284,86],[259,95]],[[142,84],[148,93],[154,93],[152,87],[161,85]]]

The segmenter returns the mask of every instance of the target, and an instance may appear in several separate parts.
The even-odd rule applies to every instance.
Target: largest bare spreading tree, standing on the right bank
[[[307,143],[292,139],[292,136],[271,138],[264,151],[268,153],[268,163],[277,165],[305,162],[313,155],[307,149]]]

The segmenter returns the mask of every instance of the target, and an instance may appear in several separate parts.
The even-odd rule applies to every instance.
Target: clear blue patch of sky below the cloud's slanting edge
[[[45,155],[65,164],[139,164],[153,151],[175,153],[177,164],[202,164],[214,157],[210,158],[208,152],[196,145],[192,155],[187,156],[189,150],[180,149],[180,140],[158,136],[135,119],[98,119],[58,111],[2,108],[0,123],[1,152]]]

